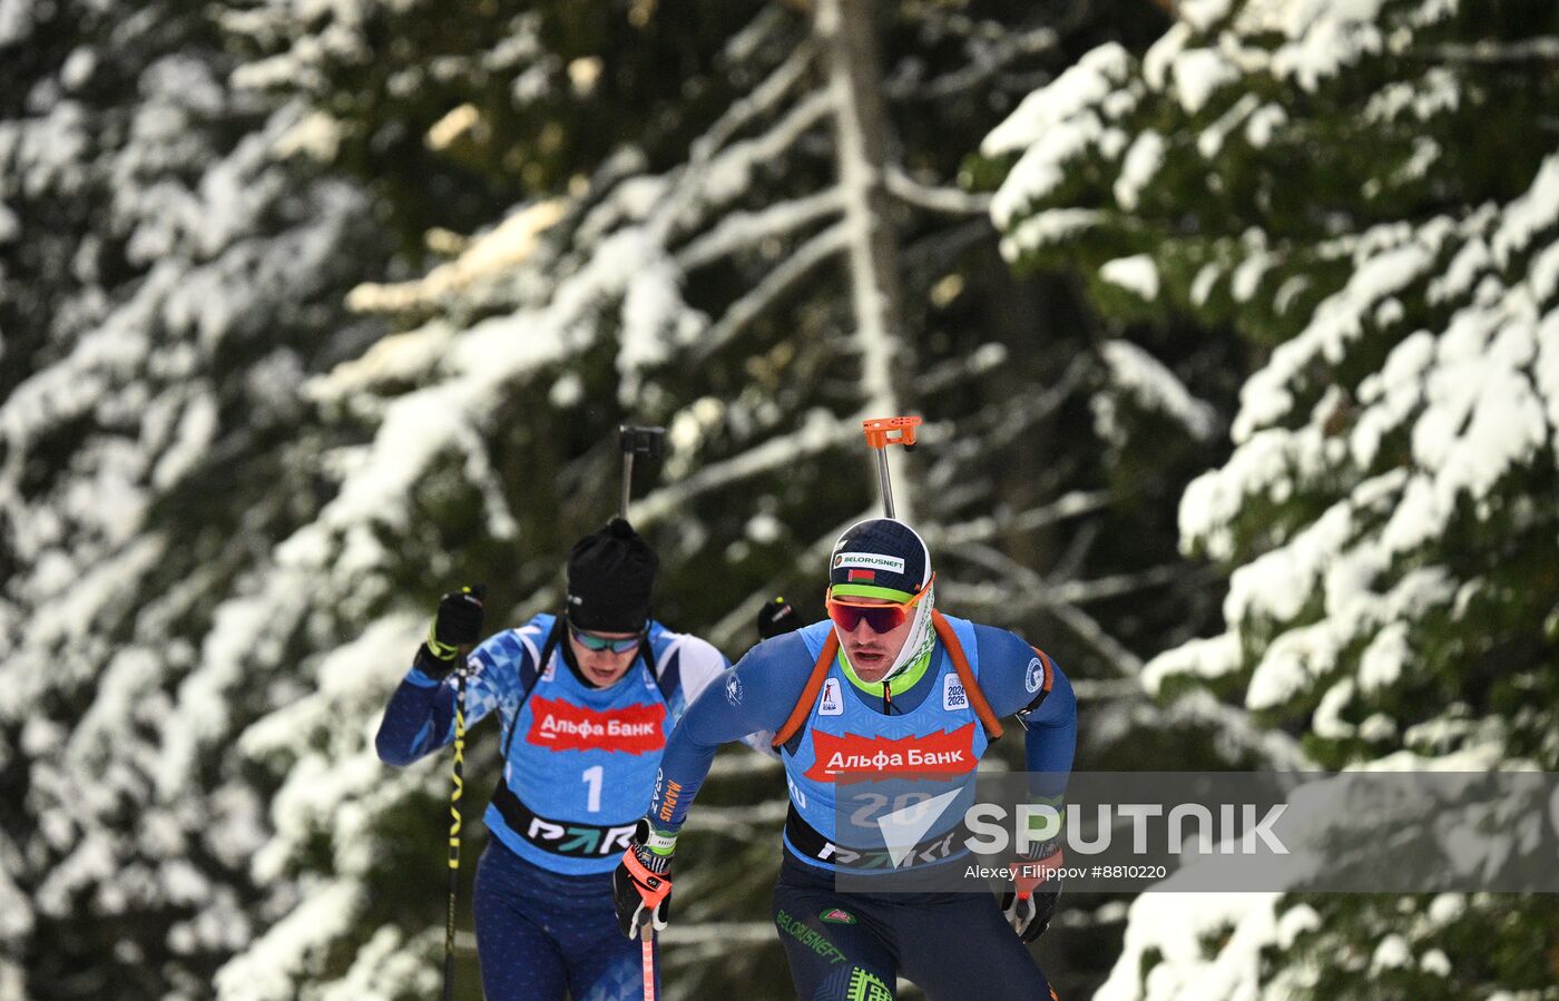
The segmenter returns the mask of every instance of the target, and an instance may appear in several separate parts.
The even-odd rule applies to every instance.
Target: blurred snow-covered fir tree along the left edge
[[[231,739],[318,646],[296,385],[387,246],[235,65],[189,5],[0,6],[5,998],[201,996],[267,920]]]

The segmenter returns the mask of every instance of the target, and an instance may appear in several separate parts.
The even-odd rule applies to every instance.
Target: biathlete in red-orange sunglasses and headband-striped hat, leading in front
[[[887,797],[857,792],[884,770],[967,789],[1006,716],[1023,722],[1027,770],[1048,783],[1032,795],[1059,806],[1065,792],[1077,737],[1066,675],[1007,630],[935,613],[932,580],[931,554],[909,525],[851,527],[829,563],[829,621],[761,642],[694,703],[614,876],[625,934],[664,926],[677,833],[716,748],[767,731],[790,792],[773,917],[800,998],[892,999],[901,974],[931,998],[1054,996],[1026,943],[1060,897],[1059,839],[1012,859],[1013,884],[998,903],[988,890],[940,892],[945,883],[939,892],[871,883],[962,870],[957,828],[895,853],[843,820],[857,801],[886,806]]]

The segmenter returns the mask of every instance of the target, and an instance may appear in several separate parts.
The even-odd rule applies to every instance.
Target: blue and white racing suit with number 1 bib
[[[486,808],[475,932],[488,1001],[642,996],[639,943],[617,931],[611,870],[649,805],[666,737],[730,661],[659,622],[610,688],[580,680],[557,621],[488,638],[466,663],[466,723],[494,709],[504,775]],[[410,764],[454,739],[455,683],[413,667],[379,727],[379,756]]]

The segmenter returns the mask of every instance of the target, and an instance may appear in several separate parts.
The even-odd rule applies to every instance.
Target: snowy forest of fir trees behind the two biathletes
[[[1547,0],[0,0],[0,998],[433,996],[447,761],[371,734],[441,589],[557,608],[624,421],[733,660],[920,413],[900,515],[1079,769],[1559,770],[1556,235]],[[670,996],[787,996],[783,812],[723,752]],[[1037,954],[1559,998],[1559,903],[1074,895]]]

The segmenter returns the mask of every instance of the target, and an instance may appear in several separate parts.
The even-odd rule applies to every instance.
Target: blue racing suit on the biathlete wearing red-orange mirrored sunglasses
[[[1046,798],[1059,795],[1063,789],[1055,786],[1071,772],[1077,739],[1077,702],[1066,675],[1007,630],[953,617],[948,624],[992,711],[1023,720],[1027,770],[1051,783]],[[720,744],[783,730],[831,628],[818,622],[759,644],[722,686],[692,705],[661,759],[650,803],[658,829],[681,828]],[[839,817],[851,812],[840,811],[851,780],[884,769],[967,780],[987,748],[940,638],[920,674],[910,675],[884,692],[881,683],[861,681],[840,652],[804,728],[783,748],[790,812],[773,912],[797,995],[889,999],[903,973],[932,998],[1051,996],[1045,974],[988,893],[876,893],[859,884],[842,892],[836,886],[839,872],[876,864],[871,848],[837,829]],[[943,834],[917,845],[909,867],[956,864],[967,854]],[[881,865],[898,875],[906,862]]]

